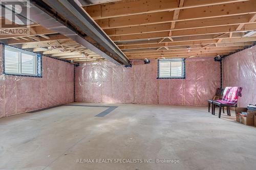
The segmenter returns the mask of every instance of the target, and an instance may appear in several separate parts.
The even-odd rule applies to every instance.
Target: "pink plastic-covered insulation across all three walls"
[[[5,76],[0,45],[0,117],[75,101],[205,106],[220,87],[220,63],[213,57],[185,60],[185,79],[157,79],[158,62],[133,60],[74,65],[42,57],[42,78]],[[223,59],[223,87],[243,87],[240,107],[256,103],[256,47]]]

